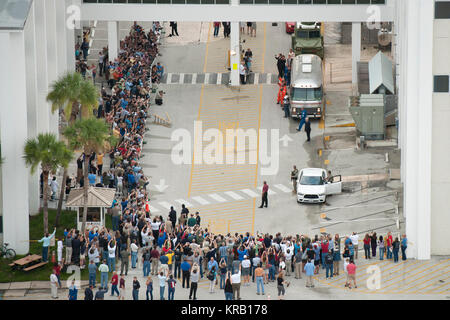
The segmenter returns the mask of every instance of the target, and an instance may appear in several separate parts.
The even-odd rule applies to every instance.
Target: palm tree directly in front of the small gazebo
[[[81,230],[84,233],[86,228],[87,217],[87,200],[88,200],[88,166],[89,155],[92,152],[98,152],[108,148],[109,145],[115,143],[116,138],[109,133],[108,124],[102,119],[84,119],[76,121],[71,126],[64,130],[69,147],[71,149],[83,148],[84,157],[84,210],[83,210],[83,223]]]

